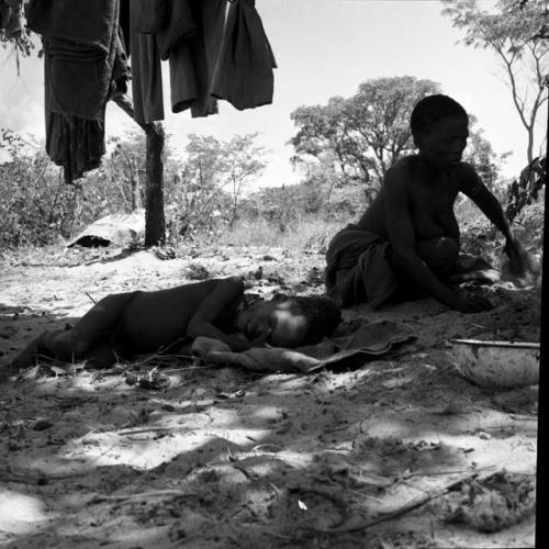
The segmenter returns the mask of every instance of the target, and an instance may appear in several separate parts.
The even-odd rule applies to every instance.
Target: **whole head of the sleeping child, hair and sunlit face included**
[[[318,343],[341,322],[336,303],[324,296],[278,295],[256,302],[243,311],[236,327],[250,339],[269,332],[267,343],[276,347],[299,347]]]

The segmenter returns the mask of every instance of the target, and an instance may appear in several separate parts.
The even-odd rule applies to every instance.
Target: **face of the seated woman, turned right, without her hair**
[[[445,116],[429,124],[416,137],[419,155],[438,167],[461,161],[469,137],[468,120],[464,116]]]

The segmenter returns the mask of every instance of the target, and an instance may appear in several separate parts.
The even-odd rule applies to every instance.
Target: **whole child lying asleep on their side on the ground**
[[[109,367],[138,354],[169,352],[199,336],[219,339],[233,351],[266,344],[298,347],[330,335],[340,320],[328,298],[278,296],[245,307],[242,279],[212,279],[107,295],[70,329],[36,337],[12,367],[26,368],[38,358]]]

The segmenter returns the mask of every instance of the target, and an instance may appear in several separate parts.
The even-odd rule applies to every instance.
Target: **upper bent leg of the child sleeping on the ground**
[[[96,303],[68,332],[59,333],[51,349],[61,360],[78,360],[102,334],[112,329],[133,293],[115,293]]]

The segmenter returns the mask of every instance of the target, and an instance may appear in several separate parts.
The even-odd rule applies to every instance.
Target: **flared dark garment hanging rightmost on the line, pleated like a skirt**
[[[212,96],[227,100],[239,111],[270,104],[276,66],[255,1],[232,2],[213,76]]]

